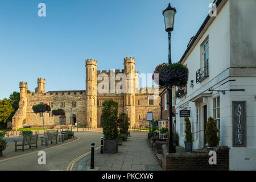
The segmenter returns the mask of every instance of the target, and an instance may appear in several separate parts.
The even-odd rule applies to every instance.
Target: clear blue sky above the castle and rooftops
[[[168,61],[162,10],[176,7],[172,61],[179,61],[213,0],[1,0],[0,99],[19,92],[19,81],[35,91],[37,78],[49,90],[84,90],[85,60],[98,70],[122,69],[135,57],[136,70],[152,73]],[[46,17],[38,4],[46,3]]]

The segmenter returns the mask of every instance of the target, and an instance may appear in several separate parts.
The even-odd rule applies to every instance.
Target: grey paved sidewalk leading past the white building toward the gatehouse
[[[117,154],[97,154],[94,166],[100,167],[100,171],[162,171],[145,133],[135,133],[118,146]],[[90,166],[90,159],[86,166]]]

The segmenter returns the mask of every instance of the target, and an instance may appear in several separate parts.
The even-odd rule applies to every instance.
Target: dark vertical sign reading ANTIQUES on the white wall
[[[246,147],[246,101],[233,101],[233,147]]]

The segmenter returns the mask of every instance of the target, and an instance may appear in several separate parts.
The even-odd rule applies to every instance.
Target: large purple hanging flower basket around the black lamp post
[[[155,73],[159,74],[160,88],[170,86],[186,86],[188,83],[188,68],[180,63],[162,63],[155,67],[152,79]]]

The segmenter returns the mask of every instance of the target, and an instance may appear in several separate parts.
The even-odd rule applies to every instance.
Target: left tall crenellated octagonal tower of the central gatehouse
[[[97,127],[97,61],[86,60],[86,125]]]

